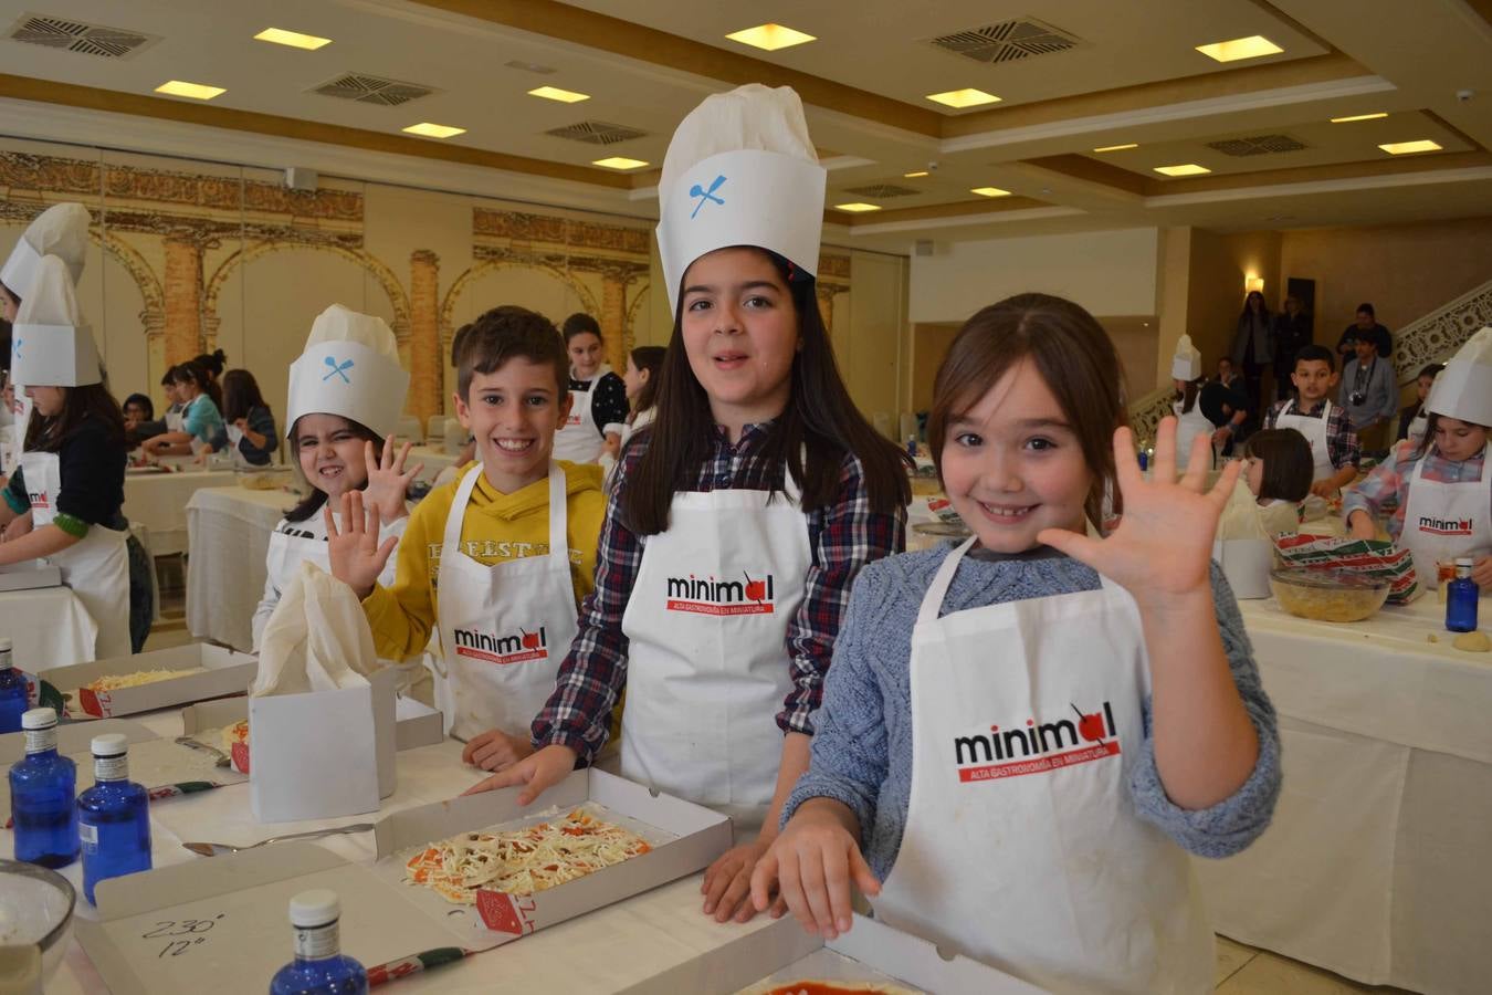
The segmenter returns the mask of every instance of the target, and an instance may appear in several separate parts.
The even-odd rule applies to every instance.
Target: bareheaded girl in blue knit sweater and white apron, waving
[[[1247,846],[1280,786],[1274,712],[1210,564],[1238,465],[1204,491],[1200,437],[1177,482],[1167,418],[1146,482],[1115,430],[1116,368],[1098,322],[1043,294],[949,346],[928,440],[974,537],[855,583],[758,908],[777,883],[833,938],[853,880],[888,925],[1047,991],[1212,989],[1188,852]],[[1085,534],[1115,483],[1119,528]]]

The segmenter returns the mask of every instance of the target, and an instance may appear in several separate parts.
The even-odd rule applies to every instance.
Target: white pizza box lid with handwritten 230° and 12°
[[[78,940],[113,995],[264,992],[294,955],[291,897],[342,900],[342,952],[364,965],[449,946],[449,934],[366,868],[315,843],[280,843],[100,882]]]

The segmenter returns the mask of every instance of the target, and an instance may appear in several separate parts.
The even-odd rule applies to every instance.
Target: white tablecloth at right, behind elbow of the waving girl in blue
[[[1253,847],[1197,862],[1213,926],[1368,985],[1488,991],[1492,655],[1452,649],[1434,595],[1356,624],[1241,604],[1285,786]]]

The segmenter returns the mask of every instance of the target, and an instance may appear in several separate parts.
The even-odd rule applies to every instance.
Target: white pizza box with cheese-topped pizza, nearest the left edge
[[[206,701],[227,695],[242,695],[254,680],[258,656],[239,653],[222,646],[192,643],[157,649],[133,656],[112,656],[91,664],[52,667],[42,671],[42,679],[58,691],[72,695],[69,719],[109,719],[121,715],[154,712],[188,701]],[[82,686],[98,677],[133,674],[139,670],[191,670],[203,667],[197,674],[157,680],[139,688],[118,691],[84,691]]]

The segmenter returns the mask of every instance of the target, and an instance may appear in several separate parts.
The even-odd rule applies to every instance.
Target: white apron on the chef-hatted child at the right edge
[[[1425,589],[1438,588],[1437,564],[1456,556],[1492,555],[1492,446],[1482,449],[1482,479],[1443,483],[1425,479],[1425,458],[1414,464],[1404,506],[1399,546],[1414,556],[1414,573]],[[27,480],[30,480],[27,474]]]

